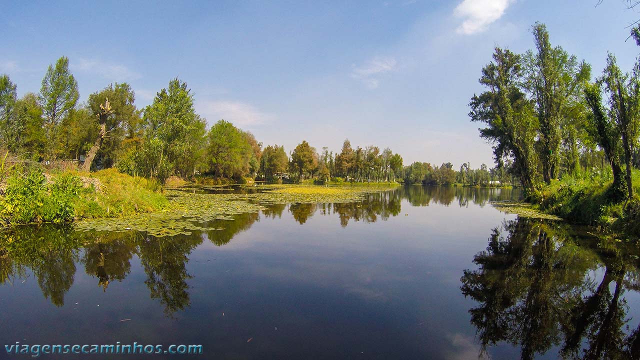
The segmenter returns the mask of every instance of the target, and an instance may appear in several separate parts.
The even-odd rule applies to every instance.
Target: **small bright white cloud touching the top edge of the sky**
[[[456,29],[458,33],[470,35],[486,30],[515,0],[464,0],[453,10],[454,15],[464,21]]]

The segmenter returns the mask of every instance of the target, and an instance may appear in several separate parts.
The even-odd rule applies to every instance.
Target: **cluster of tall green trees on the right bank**
[[[593,81],[591,65],[550,42],[544,24],[524,54],[496,47],[479,79],[486,90],[469,116],[484,127],[499,168],[513,174],[531,199],[556,179],[611,176],[611,199],[632,199],[640,167],[640,64],[629,72],[607,54]],[[639,38],[640,40],[640,38]],[[603,175],[604,174],[604,175]]]

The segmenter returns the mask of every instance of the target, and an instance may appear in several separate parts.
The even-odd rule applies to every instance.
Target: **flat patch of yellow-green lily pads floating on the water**
[[[259,188],[263,191],[246,194],[204,194],[167,190],[169,203],[161,211],[140,213],[130,217],[81,220],[75,225],[78,231],[142,231],[157,238],[179,234],[189,235],[191,231],[221,230],[202,227],[202,224],[212,220],[233,220],[234,215],[257,213],[268,205],[357,202],[364,199],[367,193],[388,190],[381,187],[305,185],[262,185]]]

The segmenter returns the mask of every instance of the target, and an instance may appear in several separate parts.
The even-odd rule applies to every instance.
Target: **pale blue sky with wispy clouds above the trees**
[[[544,22],[554,45],[630,70],[639,53],[621,0],[1,1],[0,73],[38,92],[49,63],[70,59],[83,101],[128,82],[149,104],[175,76],[219,119],[287,152],[390,147],[404,163],[493,165],[468,101],[500,45],[532,47]]]

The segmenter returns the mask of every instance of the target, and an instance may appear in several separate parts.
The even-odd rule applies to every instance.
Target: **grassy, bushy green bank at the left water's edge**
[[[160,184],[113,168],[91,174],[13,168],[2,188],[0,222],[4,226],[121,217],[157,211],[167,204]]]

